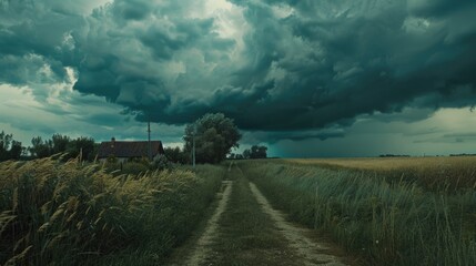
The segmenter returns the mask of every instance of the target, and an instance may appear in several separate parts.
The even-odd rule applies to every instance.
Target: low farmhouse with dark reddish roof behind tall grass
[[[151,141],[151,157],[155,158],[160,154],[164,154],[161,141]],[[110,142],[102,142],[99,146],[98,158],[104,162],[108,157],[115,157],[123,163],[131,158],[140,158],[149,156],[148,141],[115,141],[114,137]]]

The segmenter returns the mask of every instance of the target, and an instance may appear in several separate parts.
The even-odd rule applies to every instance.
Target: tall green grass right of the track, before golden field
[[[243,171],[272,202],[372,265],[476,265],[476,192],[382,173],[278,162]],[[388,173],[388,172],[385,172]]]

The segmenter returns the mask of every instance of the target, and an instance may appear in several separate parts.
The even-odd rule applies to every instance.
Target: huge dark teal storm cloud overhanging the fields
[[[0,0],[0,83],[67,82],[144,121],[223,112],[326,139],[358,115],[476,103],[476,2]],[[417,116],[415,116],[417,117]],[[308,134],[305,132],[310,131]]]

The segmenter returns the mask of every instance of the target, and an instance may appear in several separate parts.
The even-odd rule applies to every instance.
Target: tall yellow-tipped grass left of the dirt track
[[[193,231],[223,174],[203,166],[114,177],[74,161],[2,163],[0,264],[95,265],[115,254],[160,263]]]

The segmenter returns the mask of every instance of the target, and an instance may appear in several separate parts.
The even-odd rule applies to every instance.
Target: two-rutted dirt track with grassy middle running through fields
[[[169,265],[348,265],[331,255],[326,243],[308,237],[311,231],[287,222],[236,166],[217,198],[201,235]]]

